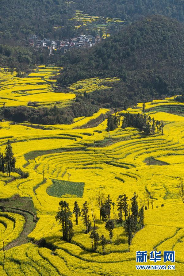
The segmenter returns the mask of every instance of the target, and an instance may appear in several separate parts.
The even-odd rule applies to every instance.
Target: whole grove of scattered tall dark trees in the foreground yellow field
[[[93,226],[92,221],[90,220],[88,202],[85,201],[83,203],[82,209],[79,208],[77,201],[74,202],[73,214],[75,215],[75,224],[78,225],[79,217],[81,217],[82,223],[86,229],[85,233],[89,233],[89,237],[91,239],[92,251],[97,250],[100,242],[102,245],[103,255],[105,255],[105,248],[108,243],[104,235],[100,237],[98,234],[96,227],[96,215],[94,214],[94,203],[100,211],[100,220],[105,220],[105,229],[109,232],[110,243],[112,244],[113,230],[116,225],[119,227],[119,225],[122,226],[123,224],[125,232],[128,236],[128,243],[131,244],[133,235],[144,227],[144,204],[140,201],[139,210],[137,198],[138,196],[134,193],[133,197],[130,199],[131,208],[128,208],[128,197],[126,194],[119,195],[116,203],[118,213],[114,216],[114,219],[111,219],[111,206],[113,206],[114,214],[115,203],[112,202],[110,195],[105,197],[104,193],[99,192],[95,197],[90,198]],[[66,201],[60,201],[59,210],[56,214],[56,221],[58,221],[59,224],[62,224],[62,239],[68,242],[71,242],[71,238],[73,236],[73,223],[71,216],[72,212],[70,211],[68,203]],[[124,221],[123,216],[125,217]]]

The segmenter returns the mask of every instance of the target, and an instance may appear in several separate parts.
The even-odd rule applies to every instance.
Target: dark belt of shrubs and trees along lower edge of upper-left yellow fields
[[[36,106],[37,102],[29,102],[29,106]],[[98,111],[99,107],[93,105],[90,99],[78,97],[70,107],[52,108],[38,107],[37,109],[27,106],[2,107],[1,118],[8,121],[24,122],[29,121],[33,124],[55,125],[71,124],[73,119],[81,116],[91,116]]]

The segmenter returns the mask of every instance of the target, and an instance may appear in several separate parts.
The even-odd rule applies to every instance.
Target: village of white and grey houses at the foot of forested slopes
[[[27,46],[33,47],[35,50],[40,48],[45,48],[50,50],[52,55],[54,51],[57,53],[64,54],[71,49],[78,48],[90,48],[97,43],[102,41],[102,37],[99,35],[93,37],[92,35],[81,35],[78,37],[67,39],[65,37],[62,40],[52,40],[51,38],[44,38],[43,40],[38,40],[37,35],[29,36],[29,44]]]

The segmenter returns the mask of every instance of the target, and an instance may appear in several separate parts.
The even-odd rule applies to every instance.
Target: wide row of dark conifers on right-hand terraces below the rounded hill
[[[135,127],[139,128],[140,131],[144,131],[146,135],[154,135],[155,131],[157,131],[157,133],[161,132],[163,135],[164,124],[162,121],[155,121],[155,119],[151,119],[149,115],[140,113],[130,114],[128,112],[123,114],[123,116],[122,128]]]

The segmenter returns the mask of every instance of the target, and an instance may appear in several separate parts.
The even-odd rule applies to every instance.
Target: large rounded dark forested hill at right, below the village
[[[180,94],[183,90],[183,25],[163,16],[132,23],[94,48],[64,56],[59,82],[68,86],[95,76],[121,82],[90,98],[106,107]]]

